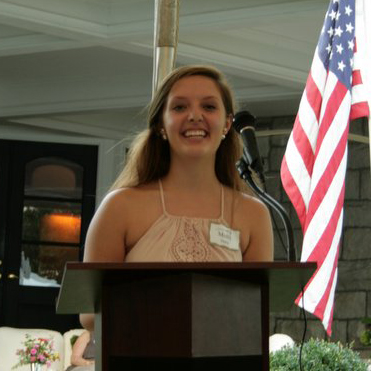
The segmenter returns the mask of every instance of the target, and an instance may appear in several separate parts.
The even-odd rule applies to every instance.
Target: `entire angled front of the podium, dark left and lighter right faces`
[[[102,317],[112,355],[262,354],[258,285],[185,273],[110,285],[103,291],[105,300],[115,303]]]

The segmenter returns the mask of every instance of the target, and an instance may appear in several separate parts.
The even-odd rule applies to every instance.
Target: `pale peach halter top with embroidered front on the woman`
[[[126,262],[218,262],[242,261],[241,249],[231,250],[210,243],[210,223],[224,220],[224,189],[221,187],[221,211],[217,219],[190,218],[166,211],[164,191],[159,181],[162,215],[127,253]]]

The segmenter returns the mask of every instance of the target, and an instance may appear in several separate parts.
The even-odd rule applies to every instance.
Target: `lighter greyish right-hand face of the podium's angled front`
[[[193,276],[192,356],[262,354],[259,285]]]

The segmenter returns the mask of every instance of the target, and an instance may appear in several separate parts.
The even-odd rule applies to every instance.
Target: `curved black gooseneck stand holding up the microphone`
[[[292,225],[289,219],[289,216],[287,215],[286,210],[283,208],[283,206],[276,201],[273,197],[271,197],[268,193],[264,192],[260,187],[257,186],[257,184],[254,182],[252,175],[251,175],[251,169],[248,166],[246,160],[244,159],[244,156],[236,163],[237,170],[240,174],[241,179],[243,179],[252,189],[253,191],[259,196],[259,198],[266,204],[271,206],[281,217],[285,232],[286,232],[286,240],[287,240],[287,252],[288,257],[287,260],[290,262],[296,261],[296,248],[295,248],[295,240],[294,240],[294,232],[292,229]],[[262,179],[262,174],[258,174],[260,179]]]

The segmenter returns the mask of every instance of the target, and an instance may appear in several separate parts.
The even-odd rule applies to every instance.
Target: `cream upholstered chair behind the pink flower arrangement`
[[[53,339],[54,349],[59,353],[60,360],[53,362],[48,369],[46,366],[43,366],[42,370],[64,371],[63,337],[59,332],[45,329],[21,329],[13,327],[0,327],[0,371],[10,371],[18,363],[19,358],[16,355],[16,351],[23,348],[22,343],[26,340],[26,334],[30,334],[32,337]],[[30,371],[30,366],[21,366],[16,370]]]

